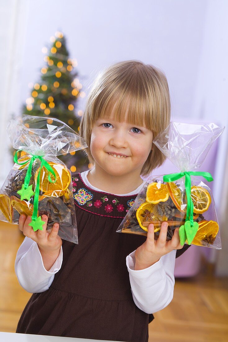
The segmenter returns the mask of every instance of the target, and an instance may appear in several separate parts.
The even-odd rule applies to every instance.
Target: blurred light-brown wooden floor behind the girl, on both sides
[[[24,236],[17,225],[0,222],[0,331],[15,332],[29,300],[14,273],[17,249]],[[149,342],[228,341],[228,278],[215,278],[206,263],[199,276],[176,279],[170,305],[155,313]]]

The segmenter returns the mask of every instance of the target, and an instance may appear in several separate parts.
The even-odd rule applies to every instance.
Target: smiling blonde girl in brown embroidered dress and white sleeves
[[[153,137],[170,122],[167,80],[139,61],[112,65],[94,83],[80,135],[93,169],[72,177],[78,245],[61,240],[58,224],[50,234],[33,232],[22,215],[26,236],[15,261],[21,286],[33,293],[18,333],[146,342],[148,323],[173,298],[175,257],[189,246],[178,228],[166,241],[116,233],[147,176],[165,157]],[[47,216],[42,217],[48,219]],[[62,246],[61,246],[62,245]]]

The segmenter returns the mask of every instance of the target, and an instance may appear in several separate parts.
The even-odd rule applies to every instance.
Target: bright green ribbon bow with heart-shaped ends
[[[187,195],[187,212],[185,224],[180,226],[179,228],[179,237],[180,244],[183,246],[185,241],[188,241],[190,245],[199,228],[198,222],[193,221],[193,202],[191,198],[191,176],[202,176],[208,182],[213,181],[212,175],[209,172],[201,172],[201,171],[185,171],[185,172],[177,172],[166,174],[163,176],[163,182],[174,182],[185,176],[185,189]]]

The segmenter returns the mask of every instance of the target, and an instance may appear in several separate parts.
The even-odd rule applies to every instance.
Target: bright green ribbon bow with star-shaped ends
[[[29,160],[30,160],[30,162],[29,162],[28,170],[26,172],[24,184],[22,185],[21,190],[18,190],[17,193],[19,195],[21,195],[21,200],[27,199],[28,201],[34,195],[32,221],[31,221],[31,223],[29,223],[29,226],[31,226],[33,228],[34,232],[36,232],[38,229],[40,229],[42,231],[43,230],[42,226],[44,225],[45,222],[41,221],[41,216],[37,217],[39,193],[40,193],[40,171],[41,171],[42,167],[46,168],[46,170],[48,171],[48,180],[51,183],[55,183],[56,182],[56,175],[55,175],[55,172],[54,172],[53,168],[43,158],[43,156],[31,154],[32,157],[27,159],[25,162],[22,162],[22,163],[18,162],[17,153],[19,151],[23,151],[23,150],[17,150],[16,151],[15,156],[14,156],[14,162],[17,163],[18,165],[27,164],[29,162]],[[32,184],[29,186],[29,182],[30,182],[31,175],[32,175],[31,174],[32,165],[33,165],[33,162],[36,159],[40,159],[40,163],[41,164],[40,164],[40,170],[39,170],[38,175],[37,175],[37,183],[36,183],[36,187],[35,187],[35,192],[33,192]],[[50,173],[54,176],[54,181],[52,181]]]

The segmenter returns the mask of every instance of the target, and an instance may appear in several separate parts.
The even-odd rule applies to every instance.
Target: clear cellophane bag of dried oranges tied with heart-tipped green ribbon
[[[179,172],[149,176],[117,229],[119,233],[147,236],[153,223],[155,239],[161,223],[168,222],[166,240],[179,227],[181,245],[221,249],[215,202],[211,189],[198,176],[213,181],[209,172],[196,171],[224,128],[214,123],[187,124],[171,121],[153,143]]]

